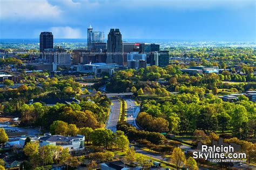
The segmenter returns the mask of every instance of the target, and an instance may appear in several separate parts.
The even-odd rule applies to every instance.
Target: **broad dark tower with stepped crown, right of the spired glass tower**
[[[107,35],[107,63],[123,65],[122,34],[119,29],[110,29]]]

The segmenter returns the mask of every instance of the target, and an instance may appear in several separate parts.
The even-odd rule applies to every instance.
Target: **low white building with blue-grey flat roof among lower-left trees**
[[[76,135],[73,137],[65,137],[63,135],[51,135],[45,134],[43,137],[39,137],[39,145],[56,145],[63,148],[69,148],[69,152],[72,155],[80,155],[84,152],[84,136]]]

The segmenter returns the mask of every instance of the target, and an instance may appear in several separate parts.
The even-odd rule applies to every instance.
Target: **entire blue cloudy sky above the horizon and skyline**
[[[255,0],[0,0],[0,38],[123,38],[256,42]]]

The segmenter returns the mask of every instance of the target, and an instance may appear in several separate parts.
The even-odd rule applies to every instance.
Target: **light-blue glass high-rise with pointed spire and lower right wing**
[[[104,43],[104,32],[103,31],[93,31],[90,25],[87,28],[87,47],[88,50],[92,50],[95,47],[95,43]]]

